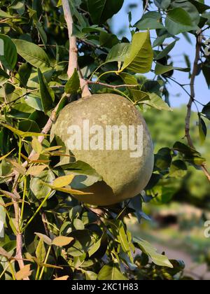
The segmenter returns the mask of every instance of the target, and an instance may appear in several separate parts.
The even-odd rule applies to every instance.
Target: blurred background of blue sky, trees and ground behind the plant
[[[125,0],[123,8],[111,21],[111,28],[118,36],[131,38],[128,14],[132,13],[132,24],[141,18],[142,1]],[[153,35],[152,35],[153,36]],[[190,62],[194,59],[194,40],[186,41],[180,34],[179,46],[172,51],[172,59],[177,66],[183,66],[184,55],[188,54]],[[174,73],[179,83],[189,83],[186,73]],[[153,78],[153,76],[147,76]],[[189,86],[188,86],[189,87]],[[188,90],[188,87],[186,89]],[[196,94],[200,102],[209,102],[209,88],[200,74],[195,81]],[[173,111],[156,111],[149,109],[144,112],[144,118],[151,132],[155,153],[161,148],[172,148],[176,141],[186,143],[185,118],[188,103],[188,95],[183,92],[176,83],[169,83],[169,101]],[[201,104],[197,104],[199,110]],[[196,111],[193,105],[193,110]],[[193,143],[210,165],[210,137],[209,121],[207,123],[207,139],[204,144],[200,142],[197,113],[192,113],[190,134]],[[201,170],[188,167],[188,173],[183,178],[167,179],[161,183],[170,190],[172,200],[167,204],[159,204],[153,201],[144,204],[144,212],[151,216],[151,221],[143,220],[141,225],[137,220],[128,221],[130,230],[139,237],[151,241],[158,251],[165,251],[169,258],[184,260],[186,274],[194,279],[210,279],[210,238],[204,237],[204,223],[210,220],[210,185]],[[169,199],[171,196],[169,197]]]

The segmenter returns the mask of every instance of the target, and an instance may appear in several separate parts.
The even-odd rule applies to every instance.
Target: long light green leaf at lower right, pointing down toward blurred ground
[[[155,265],[173,268],[173,265],[167,256],[157,253],[157,250],[150,243],[148,243],[148,241],[134,237],[134,242],[139,244],[141,250],[153,260]]]

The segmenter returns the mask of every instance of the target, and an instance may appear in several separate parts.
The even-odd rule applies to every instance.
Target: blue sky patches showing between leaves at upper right
[[[125,0],[123,8],[113,16],[112,19],[112,30],[114,34],[118,34],[118,32],[121,29],[125,29],[127,38],[131,38],[130,35],[130,29],[129,29],[129,20],[128,20],[128,6],[130,4],[137,4],[137,7],[132,9],[132,25],[137,22],[142,15],[142,0]],[[155,31],[153,30],[151,32],[151,36],[154,36]],[[210,31],[206,31],[205,34],[209,34],[210,37]],[[192,38],[192,45],[186,41],[186,39],[180,34],[179,38],[181,38],[180,41],[178,41],[170,53],[172,55],[172,59],[174,60],[174,66],[180,66],[180,67],[186,67],[186,63],[183,59],[183,54],[186,53],[190,57],[190,62],[193,66],[193,60],[195,58],[195,38]],[[208,38],[208,36],[207,36]],[[153,38],[151,39],[153,42]],[[167,38],[167,43],[171,43],[172,39]],[[153,78],[153,75],[148,74],[148,78]],[[188,73],[183,73],[181,71],[175,71],[174,72],[174,78],[179,82],[183,84],[189,83],[188,79]],[[169,92],[170,92],[170,102],[172,104],[172,107],[180,106],[181,104],[187,104],[188,103],[188,94],[183,92],[181,87],[179,85],[176,85],[174,82],[171,82],[171,85],[168,86]],[[186,87],[186,90],[189,92],[189,87]],[[200,76],[197,76],[195,81],[195,92],[196,92],[196,99],[202,104],[207,104],[210,101],[210,95],[209,95],[209,88],[207,86],[206,80],[204,79],[204,76],[202,73]],[[178,94],[178,95],[177,95]],[[202,106],[200,104],[197,104],[199,109],[202,109]],[[193,110],[196,111],[195,106],[193,106]]]

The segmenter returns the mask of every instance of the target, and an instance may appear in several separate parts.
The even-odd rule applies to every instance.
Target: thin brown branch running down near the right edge
[[[194,146],[193,140],[190,136],[190,118],[191,118],[192,105],[193,105],[193,102],[195,101],[195,78],[196,78],[197,72],[198,72],[198,63],[200,60],[201,48],[202,48],[202,31],[200,30],[197,33],[197,41],[196,41],[196,46],[195,46],[195,60],[194,60],[194,64],[193,64],[193,73],[192,73],[192,76],[190,79],[190,100],[188,102],[188,106],[187,106],[188,111],[187,111],[187,115],[186,115],[186,138],[188,140],[188,145],[194,149],[195,149],[195,146]],[[210,174],[209,174],[209,171],[204,163],[202,164],[202,170],[203,170],[204,174],[207,176],[207,179],[210,181]]]

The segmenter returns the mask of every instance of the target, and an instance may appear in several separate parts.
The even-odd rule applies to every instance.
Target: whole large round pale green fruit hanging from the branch
[[[153,143],[136,107],[116,94],[93,94],[61,111],[51,135],[62,139],[76,160],[103,178],[75,195],[81,202],[109,206],[141,193],[153,172]]]

